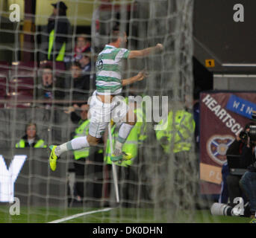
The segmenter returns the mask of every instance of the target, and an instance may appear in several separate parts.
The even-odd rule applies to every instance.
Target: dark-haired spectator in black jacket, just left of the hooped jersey
[[[66,89],[70,89],[69,99],[87,101],[90,93],[90,76],[83,75],[79,62],[73,62],[70,67],[71,77],[67,79]]]

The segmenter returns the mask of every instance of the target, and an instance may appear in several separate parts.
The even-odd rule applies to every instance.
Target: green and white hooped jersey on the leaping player
[[[122,60],[130,51],[105,45],[96,61],[96,91],[98,94],[119,94],[122,91]]]

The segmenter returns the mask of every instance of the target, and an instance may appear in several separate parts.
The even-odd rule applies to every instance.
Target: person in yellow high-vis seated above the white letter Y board
[[[36,123],[28,123],[25,127],[25,135],[16,144],[16,148],[46,148],[46,143],[37,135]]]

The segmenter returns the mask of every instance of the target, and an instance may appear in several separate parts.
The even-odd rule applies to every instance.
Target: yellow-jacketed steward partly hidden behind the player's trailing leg
[[[72,138],[88,135],[90,123],[90,120],[88,119],[88,110],[89,105],[87,104],[82,104],[80,107],[75,104],[65,111],[68,114],[70,113],[72,122],[78,124],[75,132],[72,133]],[[80,115],[75,111],[79,111]],[[96,199],[102,198],[102,184],[99,181],[95,181],[102,179],[102,166],[95,164],[95,162],[103,162],[102,147],[103,146],[99,145],[97,147],[75,150],[73,152],[75,159],[74,167],[76,181],[74,195],[76,202],[82,202],[83,200],[85,202],[88,202],[88,200],[93,202]],[[84,183],[85,180],[87,181],[86,183]],[[93,205],[96,205],[96,202],[93,202]]]

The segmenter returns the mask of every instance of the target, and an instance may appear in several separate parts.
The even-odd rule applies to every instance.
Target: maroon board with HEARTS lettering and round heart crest
[[[228,146],[251,122],[255,92],[203,92],[200,96],[200,179],[202,194],[219,194]]]

